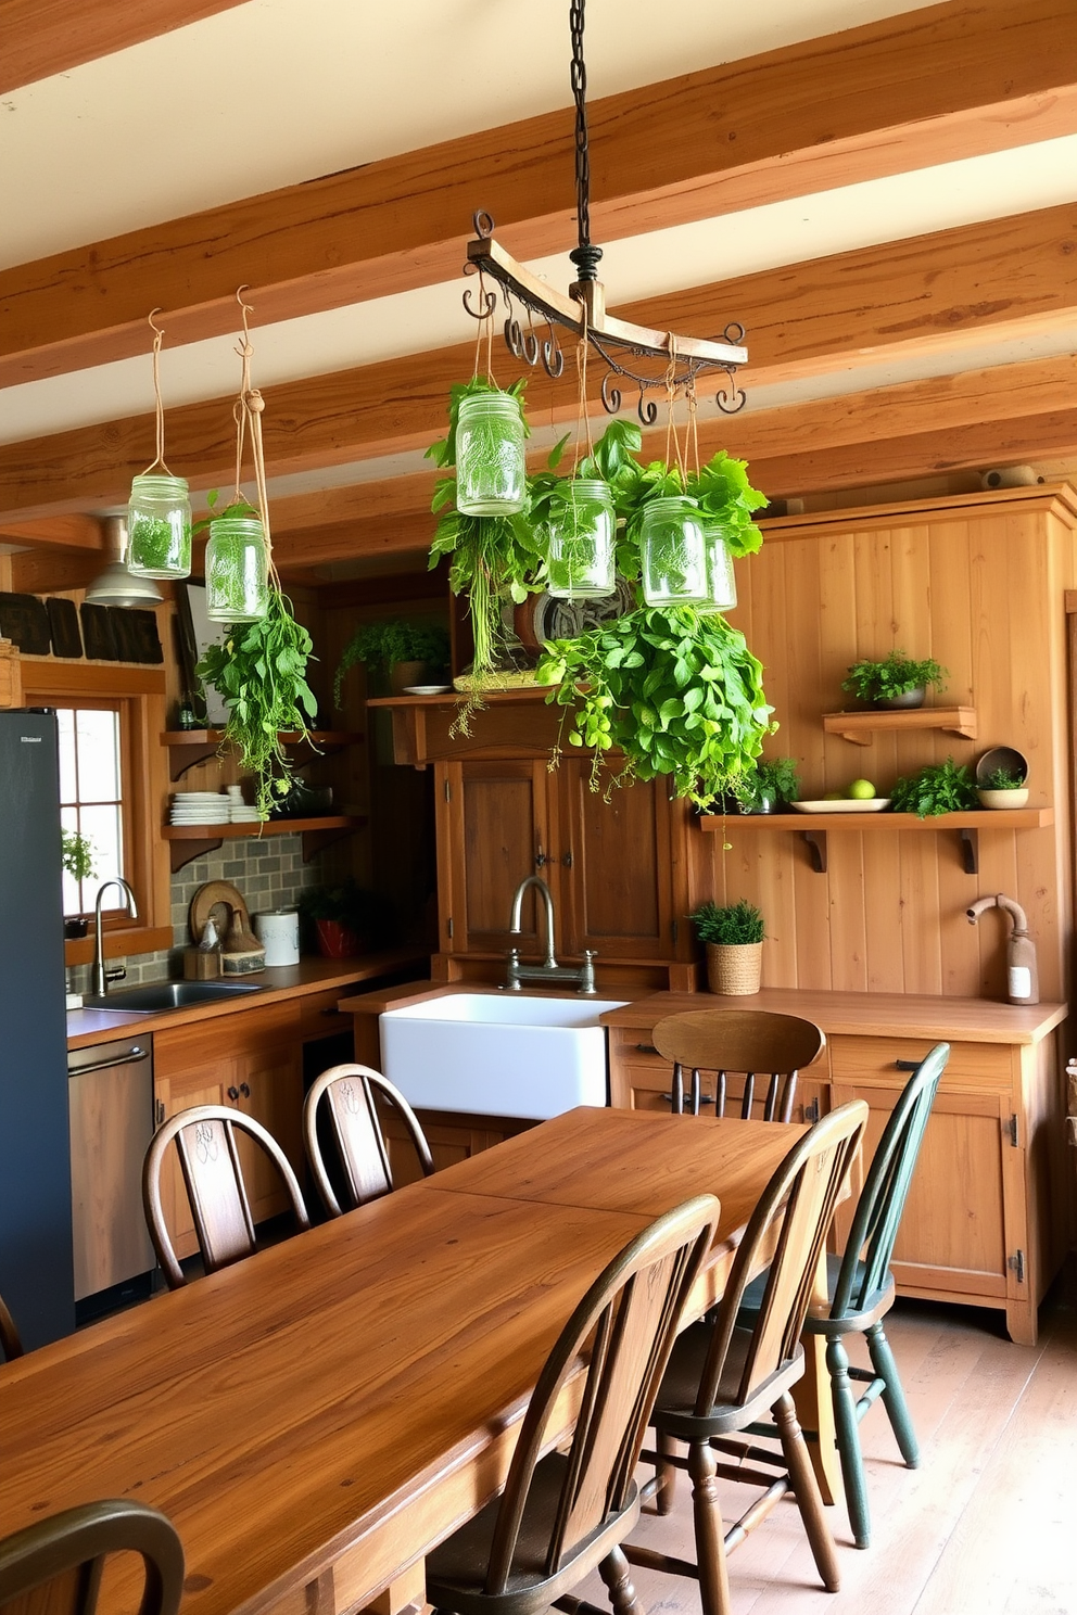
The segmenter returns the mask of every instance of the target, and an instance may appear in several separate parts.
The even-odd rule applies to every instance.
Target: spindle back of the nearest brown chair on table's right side
[[[588,1339],[591,1355],[546,1576],[555,1575],[612,1512],[627,1507],[680,1315],[714,1242],[719,1210],[714,1195],[698,1195],[660,1216],[610,1261],[562,1329],[517,1441],[491,1542],[488,1594],[504,1592],[512,1575],[551,1413]]]

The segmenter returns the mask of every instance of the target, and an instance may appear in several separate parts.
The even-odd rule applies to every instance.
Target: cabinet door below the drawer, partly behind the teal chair
[[[867,1100],[870,1160],[901,1089],[833,1085],[832,1103]],[[995,1093],[938,1093],[906,1202],[893,1274],[898,1287],[954,1298],[1008,1294],[1009,1255],[1003,1150],[1009,1105]],[[859,1193],[862,1163],[854,1169]],[[856,1200],[838,1210],[844,1242]]]

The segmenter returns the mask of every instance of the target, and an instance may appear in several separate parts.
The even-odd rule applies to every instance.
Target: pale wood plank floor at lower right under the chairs
[[[735,1615],[1077,1615],[1077,1274],[1041,1315],[1040,1344],[1014,1345],[1001,1313],[898,1302],[888,1334],[920,1439],[906,1470],[880,1405],[861,1426],[872,1546],[827,1510],[841,1591],[817,1578],[799,1515],[783,1504],[730,1558]],[[865,1353],[851,1350],[867,1366]],[[754,1492],[723,1486],[727,1526]],[[694,1558],[686,1476],[639,1544]],[[633,1570],[647,1615],[698,1615],[693,1581]],[[580,1589],[607,1607],[602,1584]]]

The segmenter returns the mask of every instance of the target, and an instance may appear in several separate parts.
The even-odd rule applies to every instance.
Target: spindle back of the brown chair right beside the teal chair
[[[715,1403],[736,1315],[754,1273],[770,1268],[751,1329],[733,1402],[743,1405],[798,1352],[804,1316],[825,1250],[827,1231],[867,1126],[867,1105],[853,1100],[823,1116],[772,1176],[751,1214],[719,1305],[707,1361],[699,1381],[696,1415]],[[723,1400],[728,1400],[723,1391]]]

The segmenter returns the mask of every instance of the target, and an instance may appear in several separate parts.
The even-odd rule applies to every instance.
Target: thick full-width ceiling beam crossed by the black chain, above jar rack
[[[594,239],[714,218],[1074,132],[1074,0],[945,0],[589,111]],[[265,325],[452,279],[476,207],[518,258],[573,244],[567,110],[6,270],[0,384],[142,352],[152,304],[191,342],[239,284]]]

